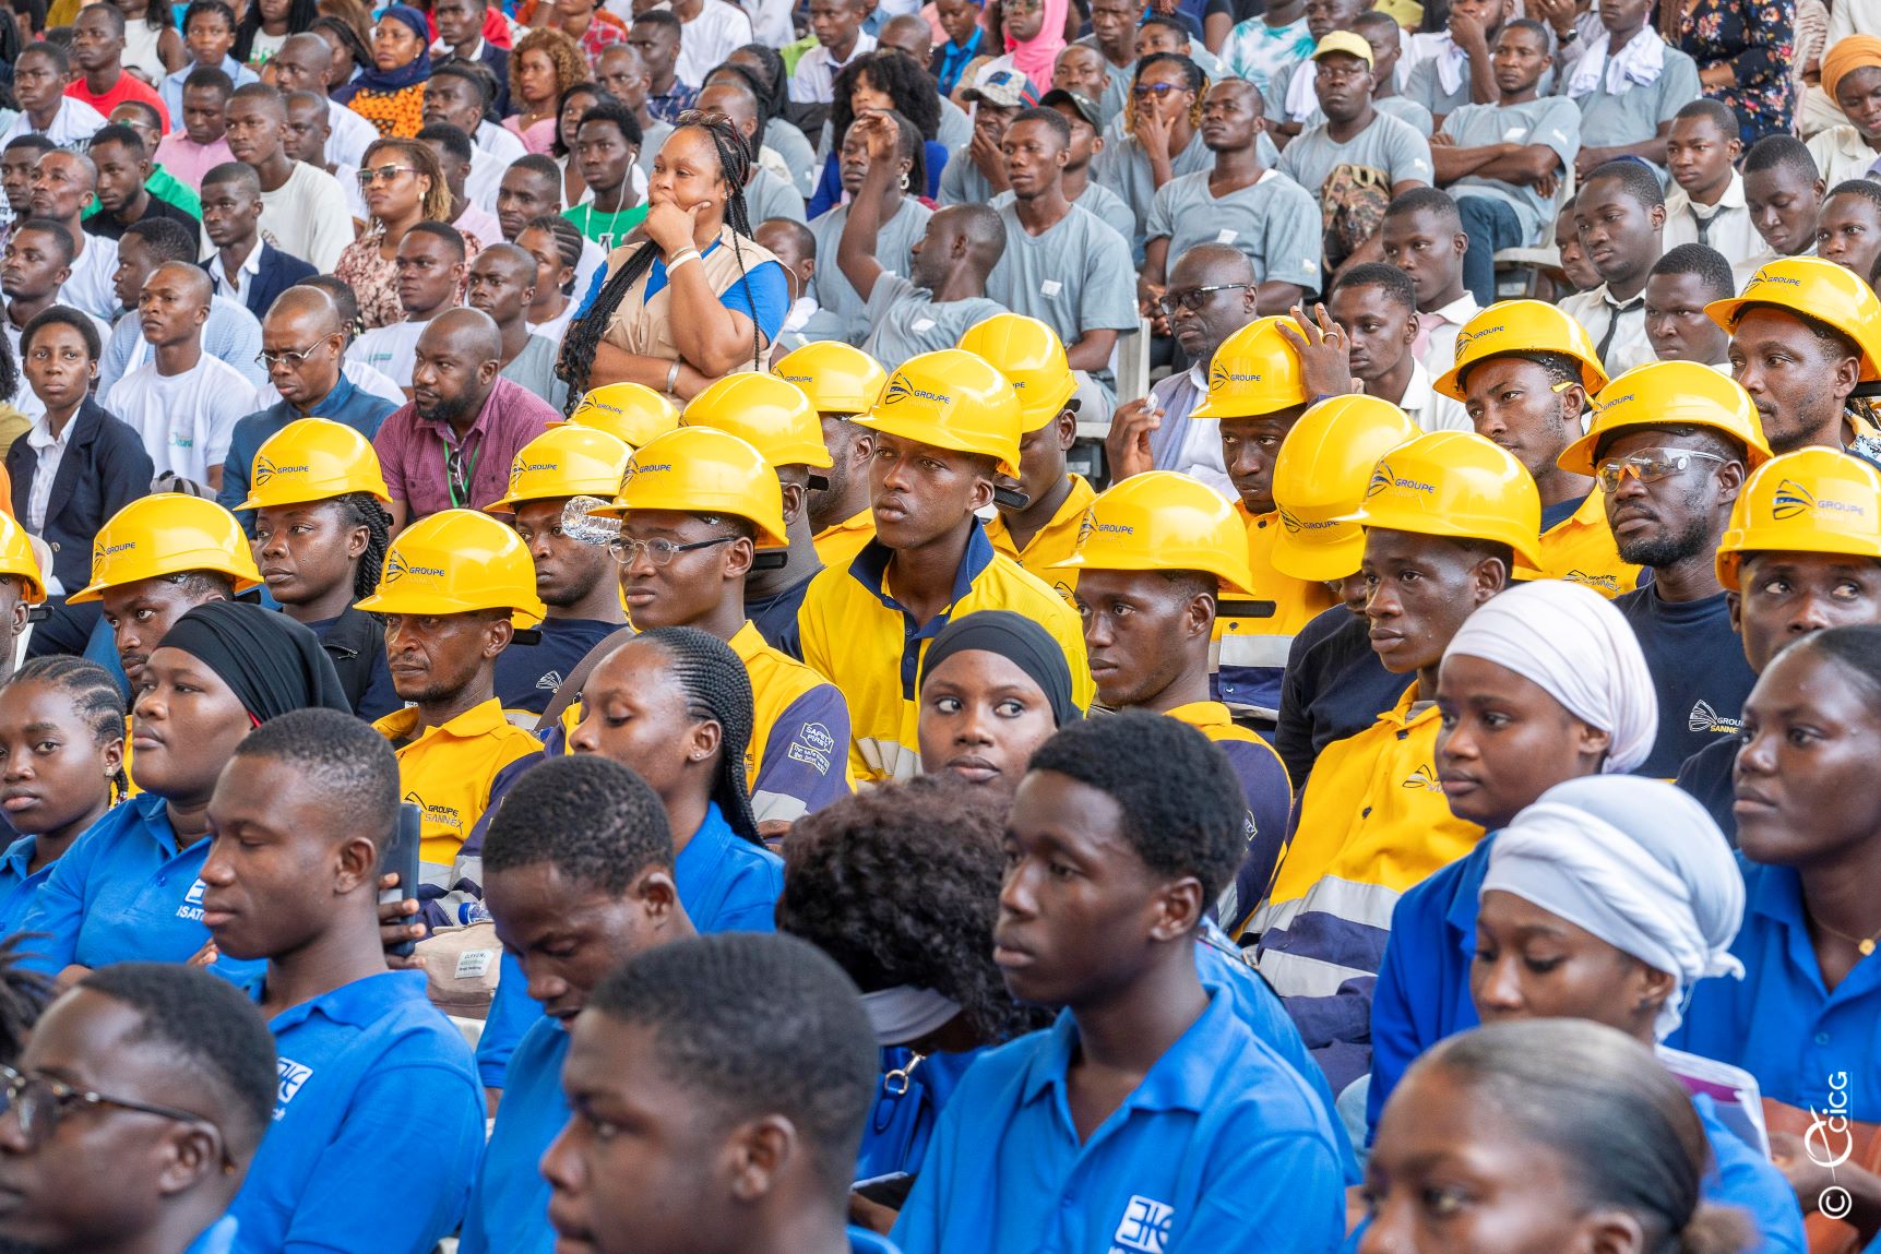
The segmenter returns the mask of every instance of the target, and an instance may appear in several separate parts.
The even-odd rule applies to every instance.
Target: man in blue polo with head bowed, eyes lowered
[[[694,934],[658,795],[606,758],[542,763],[515,782],[483,837],[483,901],[514,955],[506,978],[527,980],[547,1013],[510,1055],[457,1250],[549,1254],[549,1184],[536,1164],[568,1122],[568,1025],[624,959]]]

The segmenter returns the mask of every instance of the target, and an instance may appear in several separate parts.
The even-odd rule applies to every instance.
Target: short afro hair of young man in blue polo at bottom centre
[[[1155,769],[1144,769],[1155,763]],[[1226,754],[1166,714],[1123,711],[1061,728],[1029,771],[1051,771],[1108,795],[1119,835],[1151,872],[1202,882],[1213,902],[1247,854],[1247,801]]]

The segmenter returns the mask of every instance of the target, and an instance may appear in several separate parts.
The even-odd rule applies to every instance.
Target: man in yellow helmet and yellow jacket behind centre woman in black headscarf
[[[956,615],[1012,609],[1036,619],[1065,651],[1072,699],[1089,705],[1076,613],[995,551],[974,517],[993,504],[995,476],[1018,474],[1012,384],[972,353],[924,353],[890,374],[880,400],[856,421],[875,432],[875,540],[846,568],[816,575],[798,615],[803,660],[848,701],[856,778],[907,778],[920,769],[920,658]]]

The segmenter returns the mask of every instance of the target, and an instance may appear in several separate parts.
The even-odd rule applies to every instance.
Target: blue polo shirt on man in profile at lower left
[[[483,1090],[423,972],[356,980],[267,1027],[280,1092],[229,1205],[235,1250],[431,1254],[465,1215]]]

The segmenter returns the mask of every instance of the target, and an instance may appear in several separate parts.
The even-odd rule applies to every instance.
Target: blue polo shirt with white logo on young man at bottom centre
[[[1260,1248],[1345,1235],[1345,1175],[1313,1090],[1209,991],[1089,1139],[1070,1117],[1078,1023],[993,1049],[940,1115],[893,1241],[909,1254]]]

